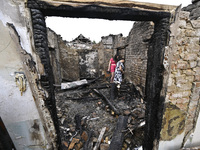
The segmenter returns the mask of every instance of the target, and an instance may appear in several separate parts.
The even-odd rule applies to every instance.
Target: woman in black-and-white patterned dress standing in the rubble
[[[124,74],[124,58],[121,58],[116,65],[115,68],[115,76],[114,76],[114,82],[117,84],[121,84],[122,82],[122,74]]]

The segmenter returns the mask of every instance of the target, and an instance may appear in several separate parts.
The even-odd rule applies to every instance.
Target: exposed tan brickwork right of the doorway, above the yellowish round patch
[[[200,2],[198,2],[200,4]],[[185,118],[185,140],[196,125],[199,114],[199,20],[194,15],[197,5],[189,5],[179,14],[178,32],[176,35],[175,48],[172,62],[171,74],[169,76],[167,101],[172,102],[180,110],[186,112]],[[173,29],[172,29],[173,30]]]

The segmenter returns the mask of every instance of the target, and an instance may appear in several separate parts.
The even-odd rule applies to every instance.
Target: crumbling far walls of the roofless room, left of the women
[[[122,34],[102,37],[98,44],[63,41],[48,29],[48,42],[55,82],[96,78],[107,71],[111,57],[116,53],[125,57],[126,38]]]

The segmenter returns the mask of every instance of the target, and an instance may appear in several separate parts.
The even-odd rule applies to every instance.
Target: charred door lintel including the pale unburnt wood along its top
[[[140,4],[140,5],[139,5]],[[175,6],[133,1],[29,0],[29,8],[42,9],[45,16],[154,21],[170,17]]]

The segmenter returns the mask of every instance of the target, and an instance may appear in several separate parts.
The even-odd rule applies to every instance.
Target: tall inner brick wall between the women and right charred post
[[[147,52],[153,31],[153,22],[135,22],[127,38],[125,76],[141,95],[145,93]]]

